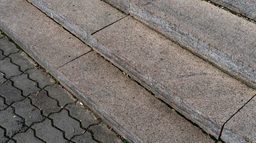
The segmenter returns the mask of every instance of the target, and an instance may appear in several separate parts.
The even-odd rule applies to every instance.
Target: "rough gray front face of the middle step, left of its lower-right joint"
[[[85,31],[84,29],[78,27],[76,23],[68,20],[62,14],[59,14],[58,11],[54,10],[54,8],[51,8],[45,3],[39,3],[38,1],[35,2],[35,0],[29,1],[37,6],[41,11],[45,12],[49,17],[52,17],[64,28],[69,30],[72,34],[78,36],[79,39],[90,45],[93,50],[104,56],[108,61],[116,65],[116,67],[119,67],[121,70],[125,71],[125,73],[138,81],[145,88],[157,95],[167,104],[171,105],[182,115],[189,118],[192,122],[198,124],[202,129],[204,129],[206,132],[213,135],[214,137],[219,137],[222,127],[221,124],[216,123],[209,116],[193,108],[180,97],[175,96],[171,90],[160,84],[155,79],[152,79],[152,77],[145,74],[142,70],[140,70],[140,68],[134,66],[121,56],[117,56],[117,54],[111,51],[110,48],[100,43],[96,38],[94,38],[91,34],[88,34],[87,31]]]

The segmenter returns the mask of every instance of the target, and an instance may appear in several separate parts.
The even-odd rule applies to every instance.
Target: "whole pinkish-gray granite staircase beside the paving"
[[[200,0],[28,1],[1,2],[0,29],[130,143],[256,142],[255,24]]]

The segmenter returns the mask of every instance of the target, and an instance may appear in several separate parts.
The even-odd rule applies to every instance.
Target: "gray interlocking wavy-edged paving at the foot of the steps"
[[[122,143],[79,100],[0,34],[0,143]]]

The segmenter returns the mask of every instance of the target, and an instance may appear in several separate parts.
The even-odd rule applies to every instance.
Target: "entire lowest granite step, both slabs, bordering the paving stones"
[[[0,29],[130,143],[218,142],[25,0],[0,7]]]

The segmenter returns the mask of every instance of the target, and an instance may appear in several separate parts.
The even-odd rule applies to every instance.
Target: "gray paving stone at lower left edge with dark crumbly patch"
[[[14,109],[8,107],[0,111],[0,126],[6,129],[6,136],[12,137],[19,132],[26,130],[24,120],[14,114]]]

